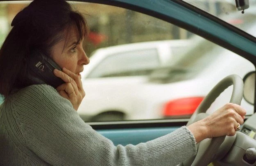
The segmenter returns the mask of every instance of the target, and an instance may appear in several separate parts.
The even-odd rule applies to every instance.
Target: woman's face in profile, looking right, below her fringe
[[[77,43],[74,28],[70,29],[69,36],[66,45],[64,39],[52,47],[51,57],[61,68],[66,67],[71,72],[79,74],[84,70],[83,66],[89,63],[89,58],[82,47],[84,39]]]

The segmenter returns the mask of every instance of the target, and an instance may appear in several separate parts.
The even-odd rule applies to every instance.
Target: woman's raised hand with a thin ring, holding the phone
[[[53,71],[55,76],[61,78],[65,82],[59,85],[56,90],[62,97],[68,99],[72,103],[73,108],[77,110],[85,96],[81,75],[77,75],[65,67],[62,70],[63,72],[57,69],[54,69]]]

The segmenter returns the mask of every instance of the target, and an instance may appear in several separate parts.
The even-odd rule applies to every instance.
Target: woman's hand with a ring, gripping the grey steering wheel
[[[189,125],[188,129],[197,143],[206,138],[233,136],[238,125],[244,123],[245,114],[240,105],[227,103],[208,117]]]

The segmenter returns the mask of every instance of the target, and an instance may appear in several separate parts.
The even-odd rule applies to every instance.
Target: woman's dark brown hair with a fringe
[[[12,90],[31,85],[27,75],[33,49],[50,55],[52,46],[65,39],[71,27],[77,28],[77,41],[88,34],[82,14],[73,11],[65,0],[34,0],[15,16],[11,26],[0,49],[0,94],[5,97]]]

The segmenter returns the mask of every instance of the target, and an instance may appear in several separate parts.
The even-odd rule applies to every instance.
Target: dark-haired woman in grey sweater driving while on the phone
[[[235,135],[243,123],[246,111],[229,103],[163,137],[114,146],[76,112],[85,96],[79,72],[89,63],[84,18],[64,0],[34,0],[12,26],[0,49],[1,165],[176,165],[196,154],[196,143]],[[64,83],[56,89],[33,79],[35,49],[61,67],[54,74]]]

